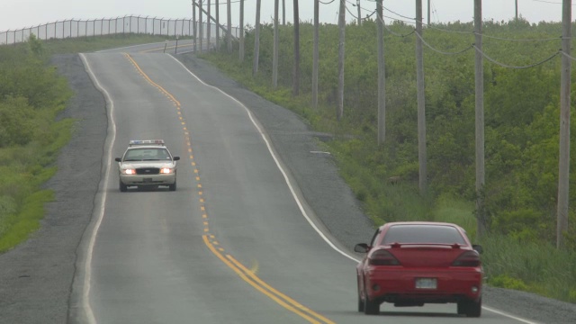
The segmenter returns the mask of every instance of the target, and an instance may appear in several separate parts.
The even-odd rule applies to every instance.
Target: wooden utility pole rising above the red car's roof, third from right
[[[428,193],[424,55],[422,53],[422,0],[416,0],[416,86],[418,88],[418,159],[420,195]]]

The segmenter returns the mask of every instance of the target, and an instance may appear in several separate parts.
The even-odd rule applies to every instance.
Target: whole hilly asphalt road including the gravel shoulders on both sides
[[[42,228],[0,256],[0,322],[576,322],[572,304],[489,287],[481,319],[358,313],[350,250],[374,229],[316,145],[329,136],[162,45],[54,59],[76,132]],[[119,191],[130,139],[182,157],[177,191]]]

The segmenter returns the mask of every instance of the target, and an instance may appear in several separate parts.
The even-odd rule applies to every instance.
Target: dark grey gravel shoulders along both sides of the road
[[[254,113],[290,170],[308,205],[338,246],[351,249],[369,240],[373,224],[338,176],[329,154],[314,153],[318,134],[293,112],[242,88],[202,59],[176,56],[204,82],[237,98]],[[74,118],[74,136],[58,157],[58,173],[46,184],[56,200],[46,206],[40,229],[0,255],[0,322],[66,323],[75,275],[76,248],[92,219],[103,163],[107,118],[105,100],[77,55],[61,55],[52,64],[66,76],[76,95],[61,118]],[[352,273],[352,270],[351,270]],[[527,320],[576,323],[576,305],[487,287],[484,304]]]

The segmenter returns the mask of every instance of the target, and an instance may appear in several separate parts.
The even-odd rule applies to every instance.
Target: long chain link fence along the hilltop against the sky
[[[34,34],[40,40],[63,40],[67,38],[92,37],[125,33],[141,33],[149,35],[165,35],[167,37],[193,36],[194,28],[197,37],[202,31],[202,38],[208,34],[211,28],[211,35],[220,32],[225,37],[225,32],[217,28],[213,23],[193,22],[192,19],[165,19],[150,18],[141,16],[123,16],[116,18],[101,18],[94,20],[64,20],[61,22],[45,23],[35,27],[28,27],[14,31],[0,31],[0,45],[15,44],[28,40]],[[232,37],[238,38],[240,29],[232,27]]]

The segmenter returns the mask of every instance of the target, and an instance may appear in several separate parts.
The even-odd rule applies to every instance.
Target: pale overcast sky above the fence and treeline
[[[198,0],[199,1],[199,0]],[[209,0],[203,0],[207,4]],[[211,11],[216,0],[211,1]],[[239,24],[239,0],[231,1],[232,24]],[[284,0],[286,22],[293,22],[293,0]],[[371,14],[376,8],[374,0],[345,0],[347,21],[356,19],[356,1],[360,2],[362,16]],[[483,0],[483,20],[508,22],[516,15],[530,23],[561,22],[563,0]],[[570,1],[570,0],[565,0]],[[338,0],[320,0],[320,23],[338,23]],[[473,21],[473,0],[429,0],[431,23],[451,23]],[[220,23],[226,22],[227,0],[220,0]],[[261,22],[272,23],[274,0],[261,0]],[[282,5],[283,0],[279,0]],[[323,4],[322,4],[323,3]],[[424,23],[428,23],[428,0],[422,0]],[[572,4],[572,8],[574,4]],[[256,23],[257,0],[245,0],[245,24]],[[416,0],[383,0],[384,20],[410,22],[415,17]],[[300,19],[312,22],[314,1],[299,0]],[[192,0],[0,0],[0,31],[14,31],[56,21],[80,19],[92,20],[124,15],[141,15],[157,18],[192,18]],[[572,14],[572,21],[576,14]],[[282,19],[282,11],[280,11]]]

